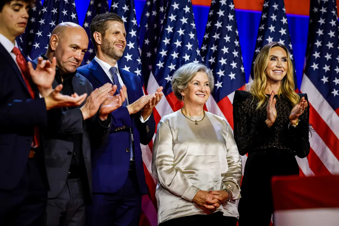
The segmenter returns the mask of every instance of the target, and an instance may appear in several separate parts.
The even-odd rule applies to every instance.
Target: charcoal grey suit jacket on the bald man
[[[34,66],[36,66],[37,62],[38,59],[35,59]],[[56,79],[52,85],[53,88],[58,85]],[[79,73],[74,75],[72,85],[74,92],[78,95],[86,93],[88,97],[93,91],[91,83]],[[87,174],[87,181],[83,181],[83,189],[85,202],[91,202],[91,144],[96,147],[100,146],[107,138],[110,126],[105,127],[100,123],[98,113],[84,121],[80,110],[80,107],[82,107],[84,103],[85,101],[74,109],[53,109],[48,112],[48,119],[50,120],[48,120],[48,125],[42,135],[46,171],[50,187],[48,198],[59,196],[67,180],[74,143],[68,141],[66,138],[74,134],[82,133],[82,153]],[[108,120],[110,120],[110,118]]]

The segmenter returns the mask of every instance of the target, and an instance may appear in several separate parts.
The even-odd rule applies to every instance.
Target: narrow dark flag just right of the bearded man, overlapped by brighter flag
[[[139,40],[141,44],[141,67],[144,80],[144,88],[147,90],[148,78],[157,56],[157,46],[161,38],[162,25],[166,13],[168,1],[147,0],[141,15],[139,27]],[[146,91],[147,93],[147,91]],[[153,111],[156,114],[156,110]],[[155,197],[156,179],[152,175],[152,149],[153,141],[148,145],[141,145],[144,160],[144,171],[148,190],[148,196],[142,199],[142,214],[140,225],[158,225],[157,200]]]

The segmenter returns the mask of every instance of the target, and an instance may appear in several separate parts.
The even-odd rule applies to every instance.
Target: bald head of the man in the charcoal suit
[[[46,57],[57,58],[61,74],[73,73],[80,66],[88,47],[88,37],[83,27],[72,22],[58,24],[49,40]]]

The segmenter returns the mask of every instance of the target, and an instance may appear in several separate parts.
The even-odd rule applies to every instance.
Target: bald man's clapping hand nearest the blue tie
[[[125,101],[127,97],[126,86],[123,85],[120,89],[120,94],[114,96],[116,90],[117,90],[117,86],[114,85],[112,87],[112,90],[109,92],[108,96],[102,103],[100,107],[100,112],[99,112],[100,113],[99,118],[101,120],[106,120],[108,114],[110,114],[112,111],[121,107],[122,103]]]

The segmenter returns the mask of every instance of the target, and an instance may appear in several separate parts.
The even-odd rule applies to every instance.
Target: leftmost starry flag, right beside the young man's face
[[[28,21],[25,32],[17,38],[20,50],[27,56],[32,48],[32,41],[38,30],[38,21],[42,9],[41,1],[36,1],[28,11]]]

